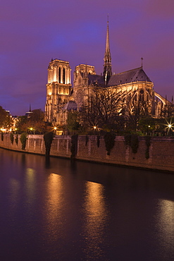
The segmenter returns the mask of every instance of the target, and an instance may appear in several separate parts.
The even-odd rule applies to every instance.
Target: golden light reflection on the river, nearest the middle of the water
[[[91,256],[104,257],[101,245],[104,243],[104,231],[108,212],[104,198],[104,186],[99,183],[87,182],[85,188],[85,242],[84,249],[87,260]]]

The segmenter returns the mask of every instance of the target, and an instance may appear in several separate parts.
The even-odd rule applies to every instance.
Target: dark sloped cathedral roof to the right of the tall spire
[[[125,83],[131,82],[151,82],[146,73],[144,73],[142,67],[132,69],[130,71],[125,71],[123,73],[118,73],[111,75],[111,78],[108,80],[108,86],[116,86]]]

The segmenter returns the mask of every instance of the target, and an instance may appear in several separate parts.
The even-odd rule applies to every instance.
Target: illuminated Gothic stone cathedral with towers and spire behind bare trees
[[[137,104],[143,104],[147,114],[154,117],[166,115],[173,108],[173,101],[154,91],[154,84],[143,67],[123,73],[112,73],[109,28],[107,23],[104,72],[97,75],[94,66],[80,64],[75,67],[73,87],[70,83],[68,61],[52,59],[48,67],[46,85],[46,121],[53,125],[66,124],[68,111],[78,111],[96,90],[109,90],[118,98],[118,115],[133,114]]]

